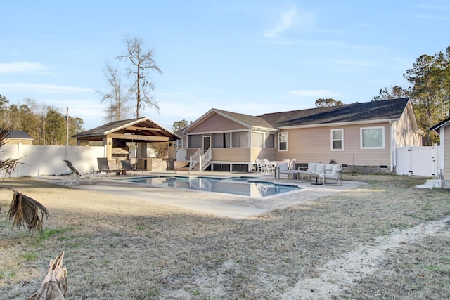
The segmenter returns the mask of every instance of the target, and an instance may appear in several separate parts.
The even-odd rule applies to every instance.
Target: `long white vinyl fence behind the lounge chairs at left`
[[[106,146],[4,145],[0,159],[20,159],[11,177],[69,174],[63,159],[79,171],[98,169],[97,157],[106,157]],[[4,174],[1,174],[2,176]]]

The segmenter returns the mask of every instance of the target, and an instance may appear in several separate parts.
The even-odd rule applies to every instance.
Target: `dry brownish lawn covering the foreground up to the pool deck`
[[[67,299],[282,299],[300,280],[319,278],[328,261],[450,214],[449,190],[415,188],[424,178],[345,179],[369,184],[250,219],[7,179],[4,185],[44,204],[50,217],[42,237],[11,230],[2,209],[0,294],[30,296],[49,259],[64,251]],[[2,208],[9,202],[0,194]],[[448,241],[442,234],[405,244],[340,296],[449,298],[442,288],[449,280]],[[30,254],[35,256],[24,259]]]

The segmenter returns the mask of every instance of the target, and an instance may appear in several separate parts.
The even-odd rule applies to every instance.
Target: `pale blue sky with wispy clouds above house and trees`
[[[167,129],[212,108],[262,115],[319,98],[367,102],[409,86],[403,74],[418,57],[450,46],[449,0],[16,0],[0,11],[0,95],[68,108],[86,130],[105,124],[98,91],[110,91],[107,63],[124,74],[116,58],[127,36],[162,71],[150,72],[160,110],[140,115]]]

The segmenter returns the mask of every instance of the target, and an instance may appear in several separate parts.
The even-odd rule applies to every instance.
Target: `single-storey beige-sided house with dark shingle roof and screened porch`
[[[211,109],[184,129],[186,157],[199,169],[252,171],[256,159],[343,164],[347,171],[390,173],[395,148],[420,146],[409,98],[251,116]],[[207,153],[206,157],[202,157]]]

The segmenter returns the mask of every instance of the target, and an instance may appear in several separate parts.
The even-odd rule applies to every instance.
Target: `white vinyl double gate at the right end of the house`
[[[397,147],[397,175],[439,176],[438,146]]]

